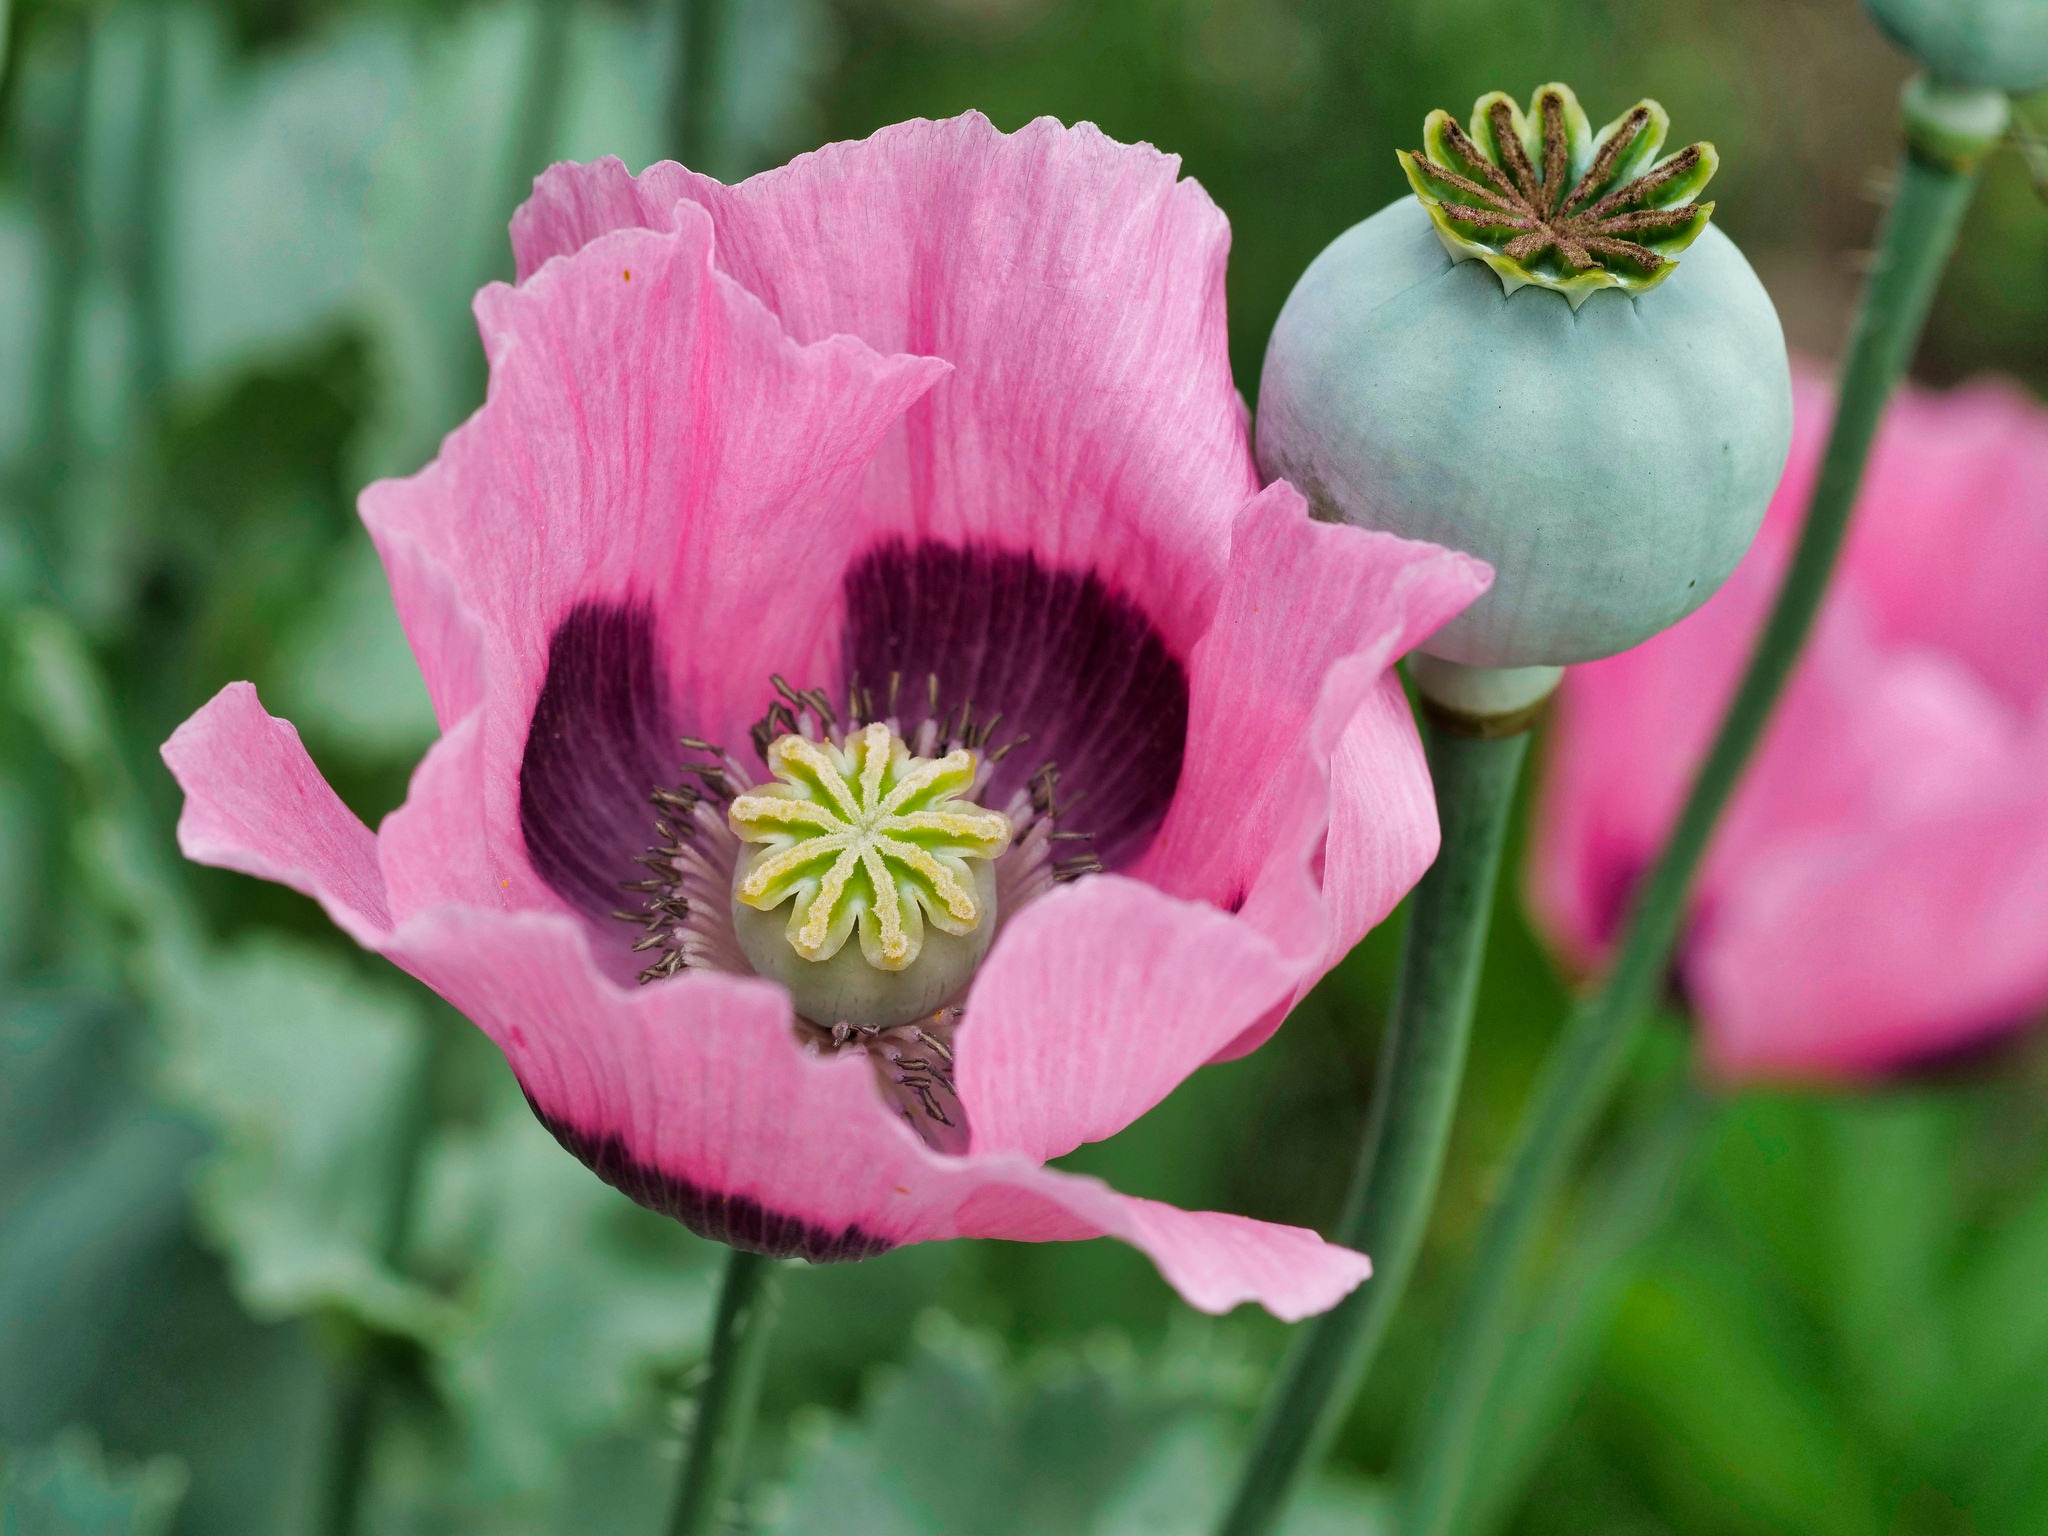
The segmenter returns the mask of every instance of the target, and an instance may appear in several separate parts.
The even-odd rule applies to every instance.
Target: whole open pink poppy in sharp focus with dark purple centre
[[[317,897],[709,1237],[1114,1235],[1208,1311],[1333,1305],[1362,1255],[1044,1167],[1427,866],[1391,666],[1487,582],[1260,492],[1217,207],[963,117],[731,188],[557,166],[512,244],[489,401],[362,496],[442,739],[373,836],[233,684],[164,752],[186,854]]]

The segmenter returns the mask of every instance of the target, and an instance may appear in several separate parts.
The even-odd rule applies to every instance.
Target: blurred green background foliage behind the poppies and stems
[[[18,0],[0,82],[0,1530],[655,1530],[715,1251],[561,1155],[467,1024],[311,907],[176,860],[156,743],[229,678],[369,819],[432,735],[352,516],[481,397],[469,293],[551,158],[702,127],[737,176],[979,106],[1186,158],[1235,227],[1255,391],[1307,260],[1436,104],[1565,78],[1718,141],[1792,338],[1843,332],[1903,63],[1849,0]],[[2015,156],[1921,373],[2048,383],[2048,211]],[[1073,1165],[1335,1212],[1395,950]],[[1335,1473],[1395,1462],[1565,983],[1507,881],[1446,1198]],[[2048,1057],[1714,1102],[1667,1020],[1561,1225],[1479,1530],[2048,1530]],[[1647,1247],[1636,1243],[1653,1235]],[[762,1532],[1204,1530],[1280,1329],[1196,1321],[1112,1243],[793,1270]],[[367,1386],[362,1362],[389,1370]]]

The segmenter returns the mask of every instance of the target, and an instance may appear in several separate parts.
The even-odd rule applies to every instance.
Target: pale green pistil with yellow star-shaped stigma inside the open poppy
[[[756,971],[799,991],[791,967],[762,952],[760,920],[748,920],[786,901],[788,922],[778,936],[786,954],[825,967],[858,932],[860,961],[901,975],[936,944],[950,956],[942,969],[958,969],[956,985],[965,985],[993,930],[989,862],[1010,848],[1012,834],[1010,817],[969,799],[977,754],[958,748],[942,758],[915,758],[903,737],[874,723],[852,731],[844,748],[778,735],[766,762],[774,782],[739,795],[727,809],[733,834],[754,844],[733,872],[733,918]],[[938,942],[928,926],[973,942],[965,948]],[[872,981],[834,969],[854,993],[874,991]],[[930,985],[913,991],[922,1006]],[[846,1012],[877,1012],[848,995],[846,985],[827,989],[825,999],[852,1004]],[[903,1006],[911,1001],[905,997]],[[930,1006],[938,1001],[944,997]],[[797,1004],[805,1010],[803,995]]]

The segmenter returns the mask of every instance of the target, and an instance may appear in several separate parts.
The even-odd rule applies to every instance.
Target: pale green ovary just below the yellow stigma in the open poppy
[[[844,944],[829,961],[807,961],[791,948],[782,909],[756,911],[733,897],[733,932],[739,950],[760,975],[788,987],[791,1006],[815,1024],[864,1024],[897,1028],[930,1018],[967,991],[975,971],[995,940],[995,866],[977,858],[969,864],[975,899],[983,918],[971,934],[924,930],[918,958],[903,971],[879,971],[860,954],[860,944]]]

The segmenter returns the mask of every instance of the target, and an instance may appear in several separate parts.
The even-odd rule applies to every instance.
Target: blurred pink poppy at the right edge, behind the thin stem
[[[1796,383],[1755,551],[1559,696],[1530,893],[1593,963],[1677,815],[1790,557],[1833,401]],[[2048,412],[1907,389],[1812,643],[1702,870],[1679,961],[1708,1063],[1845,1079],[2048,1006]]]

